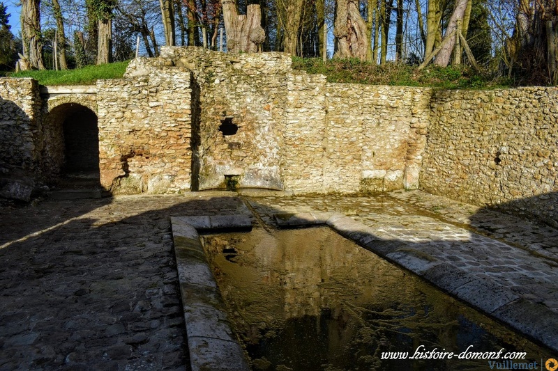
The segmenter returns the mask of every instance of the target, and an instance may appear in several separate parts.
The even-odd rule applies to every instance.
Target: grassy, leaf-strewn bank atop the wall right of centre
[[[509,88],[513,81],[492,78],[488,74],[475,72],[467,66],[440,68],[428,65],[423,70],[405,63],[389,62],[375,65],[359,59],[330,59],[293,57],[292,67],[311,74],[324,74],[329,82],[353,84],[428,86],[445,89],[490,89]]]

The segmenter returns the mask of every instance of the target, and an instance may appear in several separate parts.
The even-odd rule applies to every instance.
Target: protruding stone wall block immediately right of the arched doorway
[[[125,79],[97,82],[100,181],[114,194],[191,186],[190,71],[137,59]]]

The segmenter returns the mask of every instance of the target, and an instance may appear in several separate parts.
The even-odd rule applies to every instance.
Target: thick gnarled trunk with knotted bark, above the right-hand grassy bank
[[[358,0],[338,0],[335,14],[335,29],[338,51],[335,58],[366,59],[369,40],[366,22],[361,17]]]

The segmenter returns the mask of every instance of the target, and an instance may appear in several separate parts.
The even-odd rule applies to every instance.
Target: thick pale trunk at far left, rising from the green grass
[[[31,68],[45,70],[43,42],[40,40],[39,0],[23,0],[21,13],[23,54]]]

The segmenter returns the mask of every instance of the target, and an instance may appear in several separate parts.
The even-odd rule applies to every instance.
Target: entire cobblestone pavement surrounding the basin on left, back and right
[[[169,216],[341,212],[558,312],[558,231],[421,191],[222,192],[0,207],[0,370],[184,370]]]

